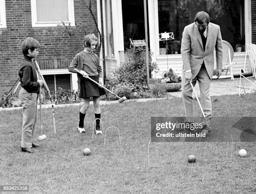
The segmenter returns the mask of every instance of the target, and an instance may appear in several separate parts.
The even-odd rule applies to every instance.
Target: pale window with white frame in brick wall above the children
[[[31,0],[32,27],[74,26],[74,0]]]

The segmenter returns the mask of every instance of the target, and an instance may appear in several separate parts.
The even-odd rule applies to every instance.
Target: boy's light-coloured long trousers
[[[24,88],[20,89],[19,98],[23,106],[21,147],[32,148],[33,135],[37,119],[37,93],[29,93]]]

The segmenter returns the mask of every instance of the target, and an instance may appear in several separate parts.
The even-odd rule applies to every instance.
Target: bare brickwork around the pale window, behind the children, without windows
[[[7,28],[0,28],[0,96],[9,91],[18,79],[18,67],[23,58],[22,41],[31,36],[41,44],[38,61],[43,59],[68,59],[83,49],[84,30],[77,30],[71,37],[64,27],[32,28],[31,0],[5,0]],[[74,0],[75,23],[82,22],[87,33],[97,34],[95,23],[84,3],[90,0]],[[92,10],[97,18],[96,0]]]

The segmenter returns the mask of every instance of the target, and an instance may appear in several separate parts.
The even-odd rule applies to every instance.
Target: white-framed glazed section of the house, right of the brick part
[[[103,20],[107,26],[105,41],[113,45],[113,52],[106,55],[105,62],[106,76],[109,77],[120,63],[120,51],[128,48],[129,38],[145,39],[145,30],[143,0],[106,0],[105,3],[109,8],[112,6],[105,16],[109,19]],[[209,13],[212,23],[220,25],[223,40],[230,43],[234,51],[233,74],[239,75],[244,66],[245,51],[250,43],[256,43],[256,0],[148,0],[148,42],[159,71],[172,68],[176,73],[182,73],[182,32],[201,10]],[[172,34],[174,38],[161,39],[163,33]],[[244,71],[251,73],[247,58]]]

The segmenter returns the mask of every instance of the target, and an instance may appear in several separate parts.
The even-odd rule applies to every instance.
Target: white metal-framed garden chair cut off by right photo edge
[[[248,94],[250,91],[252,91],[253,88],[256,87],[256,81],[252,82],[251,80],[248,79],[248,78],[256,78],[256,55],[255,55],[255,53],[256,53],[256,45],[250,43],[249,48],[250,48],[250,50],[247,50],[246,54],[245,54],[243,69],[241,68],[241,71],[240,71],[239,93],[238,94],[241,97],[244,97],[246,94]],[[251,71],[252,71],[252,74],[253,74],[252,76],[249,76],[249,77],[245,77],[245,75],[244,75],[245,74],[244,72],[245,72],[245,69],[246,69],[247,54],[248,54],[248,60],[249,60],[247,68],[248,69],[251,68]],[[249,88],[245,88],[244,87],[242,78],[244,78],[246,81],[251,83],[251,86]],[[241,88],[244,91],[243,94],[241,94]],[[246,91],[246,89],[248,89],[248,91]]]

